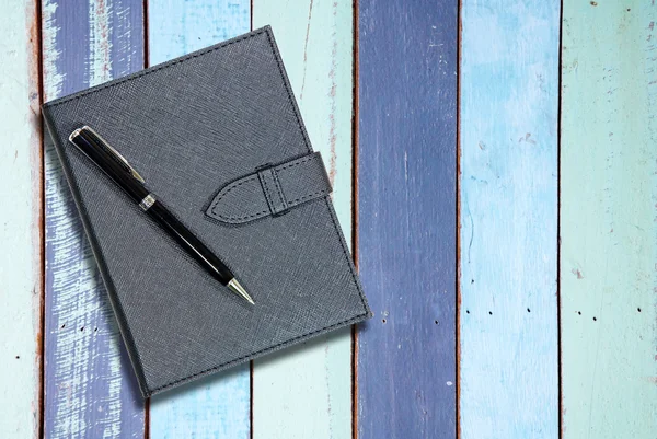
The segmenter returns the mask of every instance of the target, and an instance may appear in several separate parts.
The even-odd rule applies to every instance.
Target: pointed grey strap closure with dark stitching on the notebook
[[[283,215],[295,206],[331,194],[319,152],[276,166],[264,166],[221,188],[206,215],[231,224]]]

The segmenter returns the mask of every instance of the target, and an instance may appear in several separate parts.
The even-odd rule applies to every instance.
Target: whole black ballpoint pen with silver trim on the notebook
[[[84,155],[114,181],[139,205],[178,245],[198,264],[227,286],[235,294],[254,304],[251,296],[238,282],[226,265],[189,231],[164,205],[145,186],[145,181],[114,148],[93,129],[84,126],[76,129],[69,140]]]

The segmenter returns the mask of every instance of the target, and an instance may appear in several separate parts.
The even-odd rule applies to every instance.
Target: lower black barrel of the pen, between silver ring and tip
[[[232,273],[215,254],[192,233],[181,221],[177,220],[164,207],[162,203],[155,200],[146,212],[160,224],[160,227],[173,238],[178,245],[201,265],[212,277],[222,285],[227,285],[233,278]]]

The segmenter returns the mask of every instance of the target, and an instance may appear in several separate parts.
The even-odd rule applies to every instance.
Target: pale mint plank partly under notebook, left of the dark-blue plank
[[[253,26],[270,24],[310,140],[351,236],[351,1],[253,1]],[[351,336],[335,334],[255,360],[253,437],[351,437]]]

